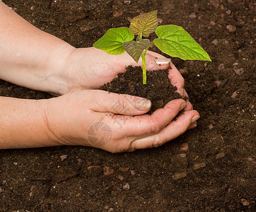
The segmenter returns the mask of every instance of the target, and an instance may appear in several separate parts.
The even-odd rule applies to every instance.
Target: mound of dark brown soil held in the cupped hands
[[[126,73],[119,73],[117,78],[100,89],[148,98],[152,102],[148,113],[152,114],[155,110],[165,107],[170,100],[182,98],[176,92],[177,88],[170,83],[168,73],[165,70],[147,71],[147,84],[143,85],[143,70],[138,66],[128,66]]]

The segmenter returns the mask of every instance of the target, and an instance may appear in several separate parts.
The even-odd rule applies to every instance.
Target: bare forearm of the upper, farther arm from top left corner
[[[51,93],[67,90],[60,67],[74,47],[35,28],[1,1],[0,20],[0,78]]]

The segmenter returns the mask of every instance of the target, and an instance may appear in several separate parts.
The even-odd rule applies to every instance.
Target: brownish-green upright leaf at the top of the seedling
[[[134,17],[130,22],[130,32],[132,32],[134,35],[140,34],[144,37],[148,37],[150,33],[155,32],[157,25],[157,11],[143,13]]]

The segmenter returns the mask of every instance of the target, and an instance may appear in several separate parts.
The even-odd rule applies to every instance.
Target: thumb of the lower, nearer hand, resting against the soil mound
[[[151,101],[133,95],[108,93],[95,90],[91,93],[91,110],[95,112],[112,112],[114,114],[139,115],[148,112]]]

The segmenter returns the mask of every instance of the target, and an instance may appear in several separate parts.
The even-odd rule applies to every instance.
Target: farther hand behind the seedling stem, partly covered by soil
[[[91,48],[72,49],[65,57],[63,70],[60,71],[62,77],[68,79],[69,90],[80,87],[86,89],[99,88],[104,83],[108,83],[115,78],[118,73],[124,73],[127,66],[142,66],[142,60],[138,64],[126,52],[120,55],[111,55],[106,52]],[[173,86],[177,87],[177,92],[182,96],[189,97],[184,90],[184,78],[177,68],[172,64],[157,64],[157,59],[165,58],[161,54],[148,51],[146,54],[147,71],[159,69],[169,69],[169,79]],[[67,93],[69,90],[63,90]],[[62,94],[63,94],[62,93]],[[185,110],[192,110],[192,105],[187,101]]]

